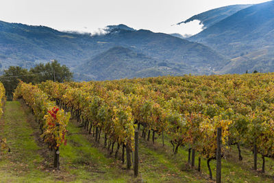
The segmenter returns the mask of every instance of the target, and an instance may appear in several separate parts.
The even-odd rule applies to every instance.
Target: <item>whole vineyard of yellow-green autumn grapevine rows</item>
[[[140,148],[155,145],[171,157],[181,157],[186,151],[186,167],[206,172],[209,180],[214,180],[211,162],[218,158],[220,147],[223,160],[237,153],[236,161],[242,162],[243,152],[252,154],[249,164],[253,170],[247,171],[272,176],[266,173],[266,162],[274,158],[273,79],[272,73],[258,73],[105,82],[47,81],[37,85],[21,82],[14,100],[23,98],[32,109],[40,138],[53,151],[57,169],[62,167],[62,147],[66,149],[70,143],[67,136],[73,117],[95,146],[101,145],[126,169],[134,167],[135,171],[136,164],[140,164],[136,161],[138,144]],[[3,93],[2,86],[2,97]],[[217,129],[221,129],[221,146],[216,140]],[[142,157],[142,150],[139,154]],[[262,157],[260,163],[258,155]],[[258,168],[259,164],[262,167]],[[139,166],[141,169],[142,164]],[[203,176],[204,180],[208,178]]]

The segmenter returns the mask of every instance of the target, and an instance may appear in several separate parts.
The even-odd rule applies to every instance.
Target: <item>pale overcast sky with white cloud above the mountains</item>
[[[199,22],[171,26],[190,16],[225,5],[260,0],[0,0],[0,21],[45,25],[58,30],[95,32],[123,23],[153,32],[195,34]]]

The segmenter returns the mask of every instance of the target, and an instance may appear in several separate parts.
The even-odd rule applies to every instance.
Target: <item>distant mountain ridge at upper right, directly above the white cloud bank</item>
[[[201,21],[201,23],[203,24],[203,29],[206,29],[210,27],[211,25],[214,25],[215,23],[249,6],[251,5],[228,5],[221,8],[216,8],[213,10],[203,12],[201,14],[196,14],[195,16],[190,17],[186,21],[177,23],[177,25],[198,20],[198,21]]]

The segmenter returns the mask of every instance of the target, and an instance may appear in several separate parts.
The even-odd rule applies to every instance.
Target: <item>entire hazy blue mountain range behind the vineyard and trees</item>
[[[58,60],[77,80],[274,71],[274,1],[230,5],[192,16],[202,32],[188,38],[108,25],[105,34],[59,32],[0,21],[0,71]]]

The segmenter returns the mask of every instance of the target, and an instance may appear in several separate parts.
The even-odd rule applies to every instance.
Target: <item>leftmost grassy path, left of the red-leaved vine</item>
[[[33,134],[21,104],[6,102],[1,117],[1,136],[7,139],[11,152],[0,158],[1,182],[53,182],[49,172],[37,168],[43,158],[38,154],[40,148]]]

